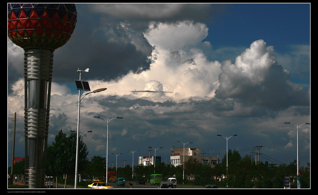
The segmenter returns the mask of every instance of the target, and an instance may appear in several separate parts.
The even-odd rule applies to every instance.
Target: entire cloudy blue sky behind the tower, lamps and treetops
[[[71,39],[54,51],[48,143],[77,129],[78,68],[92,90],[81,101],[80,132],[89,157],[123,153],[134,165],[149,146],[193,142],[209,156],[229,149],[270,163],[296,157],[296,128],[310,122],[310,4],[76,4]],[[24,156],[23,49],[8,39],[8,166]],[[299,133],[299,161],[310,162],[310,125]],[[188,145],[186,145],[188,146]],[[154,155],[152,151],[151,155]],[[109,161],[115,161],[111,155]],[[271,160],[271,161],[270,161]],[[119,164],[119,163],[118,163]],[[111,165],[111,163],[110,163]],[[120,164],[119,164],[120,165]]]

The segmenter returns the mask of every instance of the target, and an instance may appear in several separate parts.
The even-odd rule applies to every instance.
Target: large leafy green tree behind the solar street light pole
[[[70,136],[59,130],[55,136],[55,142],[52,145],[47,146],[46,155],[46,173],[50,176],[63,176],[72,175],[75,170],[76,161],[76,136],[77,134],[72,132]],[[86,144],[83,141],[79,141],[79,155],[78,155],[78,172],[85,168],[88,159]],[[75,174],[75,173],[74,173]],[[65,177],[66,179],[67,177]]]

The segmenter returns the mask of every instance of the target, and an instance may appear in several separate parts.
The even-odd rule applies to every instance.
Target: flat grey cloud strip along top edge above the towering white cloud
[[[135,28],[147,29],[148,22],[175,23],[183,20],[209,23],[211,17],[224,13],[228,4],[209,3],[97,3],[88,4],[91,10],[111,20],[140,23]],[[142,26],[142,24],[145,24]]]

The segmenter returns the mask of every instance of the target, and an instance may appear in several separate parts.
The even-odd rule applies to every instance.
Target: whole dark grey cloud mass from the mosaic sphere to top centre
[[[76,7],[78,22],[74,33],[66,45],[54,52],[53,81],[57,83],[78,79],[75,73],[78,68],[94,72],[85,74],[84,80],[104,81],[148,70],[154,48],[142,32],[148,29],[149,22],[208,22],[223,6],[97,3],[76,4]],[[70,72],[74,72],[73,78]]]

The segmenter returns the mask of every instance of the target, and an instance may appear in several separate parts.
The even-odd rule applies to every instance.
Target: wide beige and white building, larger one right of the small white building
[[[203,151],[199,148],[184,148],[184,162],[190,157],[197,159],[197,161],[204,165],[210,165],[211,167],[220,163],[219,156],[204,156]],[[183,148],[171,148],[170,164],[174,166],[183,164]]]

